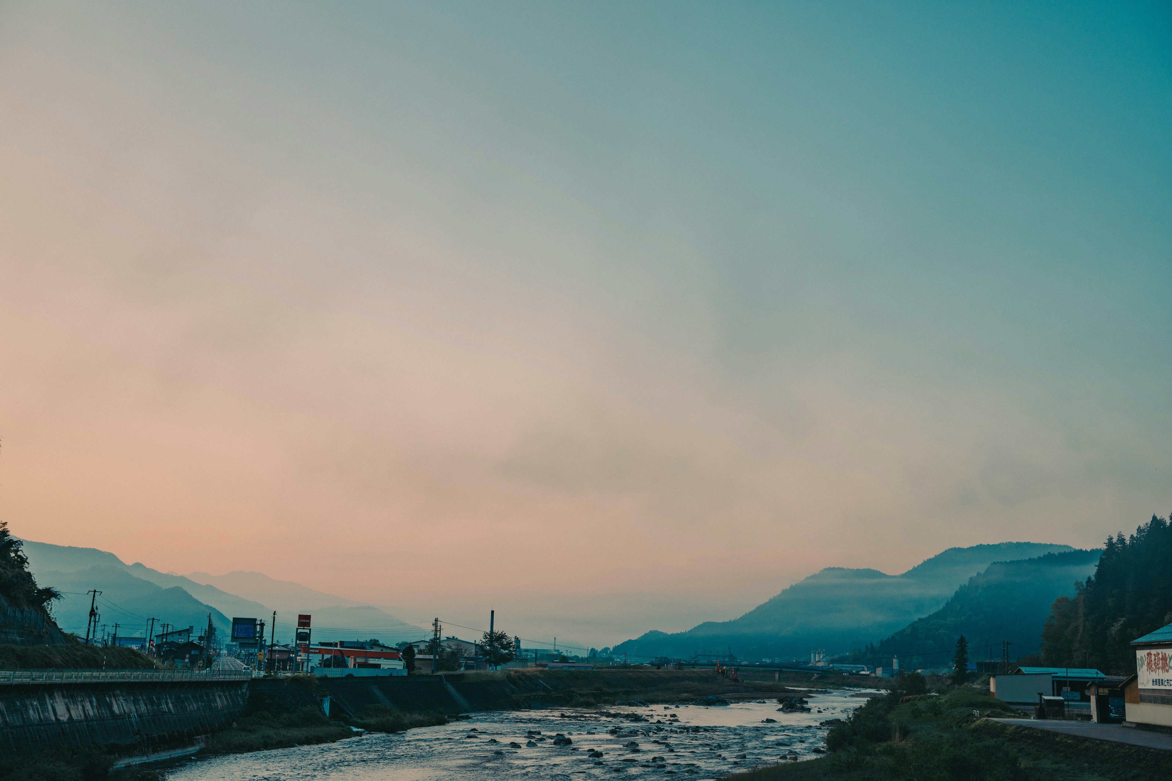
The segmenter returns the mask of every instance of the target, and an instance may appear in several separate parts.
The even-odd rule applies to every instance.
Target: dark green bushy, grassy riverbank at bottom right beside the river
[[[972,686],[936,694],[895,690],[826,735],[825,758],[738,781],[1140,781],[1167,777],[1167,753],[1007,727],[1017,715]]]

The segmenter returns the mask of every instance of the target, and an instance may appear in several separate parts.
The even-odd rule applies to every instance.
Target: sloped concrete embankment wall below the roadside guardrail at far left
[[[231,724],[247,698],[246,680],[0,685],[0,754],[156,751]]]

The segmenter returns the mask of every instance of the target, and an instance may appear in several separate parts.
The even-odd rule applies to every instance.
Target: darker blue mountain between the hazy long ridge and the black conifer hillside
[[[968,639],[970,659],[1000,659],[1009,640],[1009,658],[1035,653],[1050,605],[1075,594],[1075,582],[1095,571],[1102,550],[1069,550],[1036,559],[989,564],[956,589],[940,610],[919,618],[856,658],[888,665],[899,655],[906,669],[947,666],[956,638]]]

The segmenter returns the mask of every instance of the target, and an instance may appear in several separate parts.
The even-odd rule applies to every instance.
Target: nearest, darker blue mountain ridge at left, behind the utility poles
[[[168,623],[178,629],[192,626],[195,635],[203,635],[209,615],[218,631],[227,632],[232,624],[223,612],[184,589],[158,587],[120,567],[89,567],[73,573],[42,570],[36,577],[62,592],[53,605],[53,617],[63,631],[75,635],[86,633],[90,604],[86,591],[90,589],[102,592],[95,603],[101,614],[98,623],[110,632],[115,623],[120,624],[118,635],[145,637],[151,617],[156,619],[156,633],[162,631],[162,623]]]

